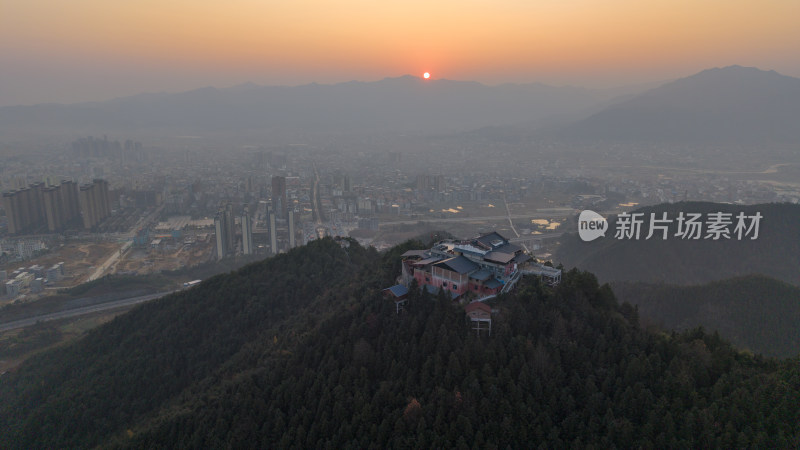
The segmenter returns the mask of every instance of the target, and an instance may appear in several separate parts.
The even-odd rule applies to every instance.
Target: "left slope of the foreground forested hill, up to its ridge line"
[[[0,378],[0,448],[102,444],[175,401],[213,385],[231,361],[280,336],[290,345],[346,308],[357,288],[377,289],[373,250],[314,242],[196,288],[144,304],[74,345],[32,358]]]

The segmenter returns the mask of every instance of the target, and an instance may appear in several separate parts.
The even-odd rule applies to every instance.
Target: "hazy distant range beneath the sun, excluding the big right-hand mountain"
[[[452,132],[581,111],[616,91],[486,86],[410,75],[297,87],[212,87],[99,103],[0,108],[0,132]]]

